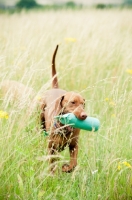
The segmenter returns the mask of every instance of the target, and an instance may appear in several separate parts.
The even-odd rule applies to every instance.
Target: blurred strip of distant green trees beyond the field
[[[0,0],[0,9],[82,9],[86,7],[95,7],[99,9],[132,7],[132,0]]]

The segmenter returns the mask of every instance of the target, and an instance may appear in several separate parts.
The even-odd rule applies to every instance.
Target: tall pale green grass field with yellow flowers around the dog
[[[1,89],[0,200],[132,200],[131,22],[131,10],[0,15],[0,81],[35,93],[50,88],[59,44],[60,87],[80,92],[88,115],[101,122],[96,133],[81,131],[76,170],[61,172],[67,149],[51,177],[37,111],[29,117],[29,101],[21,106]]]

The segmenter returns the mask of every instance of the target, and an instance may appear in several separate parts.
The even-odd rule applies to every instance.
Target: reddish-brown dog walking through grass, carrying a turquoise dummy
[[[62,166],[63,172],[71,172],[77,165],[78,138],[80,130],[70,126],[64,126],[54,119],[55,116],[74,113],[80,120],[85,120],[87,114],[84,111],[85,100],[80,94],[75,92],[66,92],[58,89],[58,80],[56,76],[55,57],[58,45],[55,49],[52,59],[52,89],[48,90],[43,96],[41,123],[46,131],[50,131],[48,151],[50,154],[51,170],[55,170],[55,159],[53,155],[56,152],[64,150],[66,146],[70,150],[70,163]]]

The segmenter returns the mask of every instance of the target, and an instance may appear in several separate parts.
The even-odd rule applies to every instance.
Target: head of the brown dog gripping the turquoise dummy
[[[55,104],[55,110],[58,114],[73,113],[78,119],[85,120],[87,114],[84,111],[85,99],[75,92],[67,92]]]

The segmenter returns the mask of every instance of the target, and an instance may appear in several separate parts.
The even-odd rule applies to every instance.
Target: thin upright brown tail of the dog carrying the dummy
[[[58,46],[56,46],[56,49],[54,51],[54,54],[53,54],[53,58],[52,58],[52,88],[58,88],[59,85],[58,85],[58,79],[57,79],[57,74],[56,74],[56,68],[55,68],[55,57],[56,57],[56,53],[57,53],[57,50],[58,50]]]

